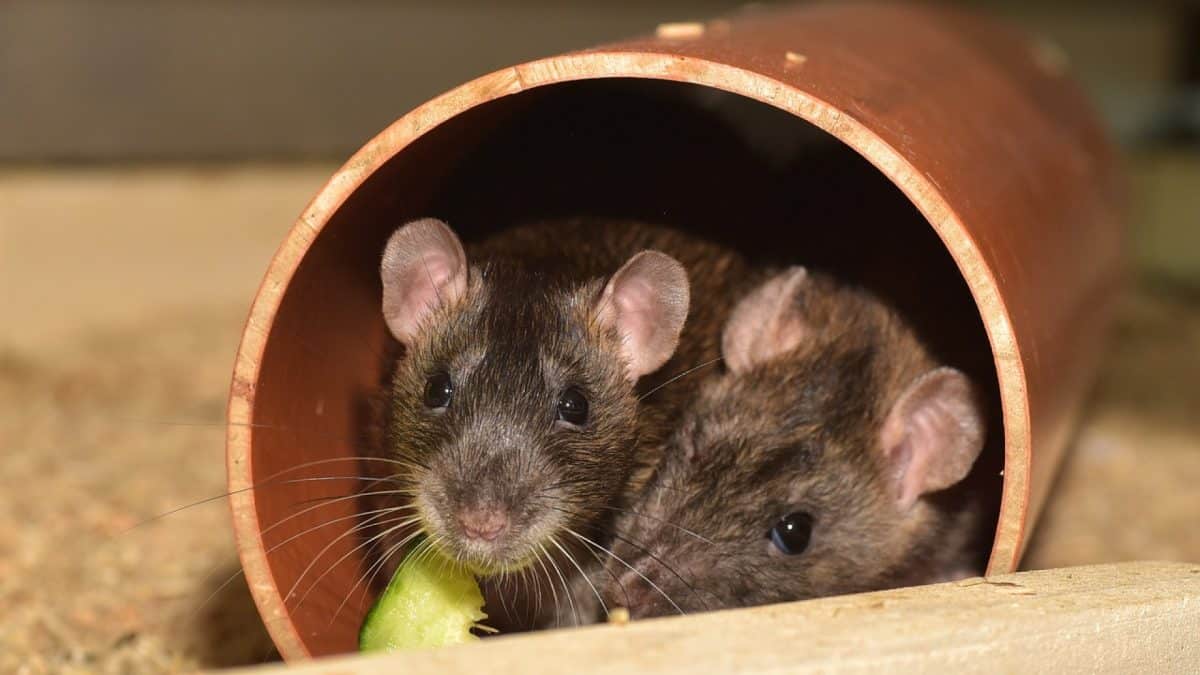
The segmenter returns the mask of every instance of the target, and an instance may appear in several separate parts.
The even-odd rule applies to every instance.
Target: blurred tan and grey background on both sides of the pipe
[[[1133,197],[1134,287],[1025,565],[1200,561],[1200,6],[959,4],[1048,41]],[[221,503],[126,530],[223,491],[294,219],[433,95],[740,5],[0,0],[0,671],[272,658]]]

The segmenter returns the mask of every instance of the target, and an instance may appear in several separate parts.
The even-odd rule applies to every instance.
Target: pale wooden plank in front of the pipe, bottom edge
[[[1135,562],[240,673],[1184,673],[1196,668],[1200,565]]]

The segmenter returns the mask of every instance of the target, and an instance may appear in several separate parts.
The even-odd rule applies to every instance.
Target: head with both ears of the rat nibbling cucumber
[[[532,563],[625,488],[634,386],[674,351],[688,277],[656,251],[608,274],[472,265],[437,220],[388,241],[384,318],[404,346],[389,402],[394,480],[430,542],[476,573]]]

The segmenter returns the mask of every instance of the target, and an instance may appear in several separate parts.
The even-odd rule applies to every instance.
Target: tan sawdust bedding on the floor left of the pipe
[[[274,658],[222,502],[244,312],[60,354],[0,353],[0,673],[168,673]],[[214,595],[215,593],[215,595]]]

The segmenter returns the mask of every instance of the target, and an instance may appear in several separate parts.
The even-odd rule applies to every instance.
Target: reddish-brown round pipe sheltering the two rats
[[[696,103],[715,91],[758,109],[763,129],[782,120],[844,145],[818,138],[811,161],[805,150],[770,174],[794,180],[768,185]],[[251,310],[228,414],[241,560],[284,658],[353,650],[370,602],[355,587],[358,542],[341,537],[354,519],[332,521],[353,501],[284,519],[359,485],[294,479],[360,468],[325,460],[360,453],[360,402],[380,382],[389,342],[376,270],[388,233],[426,214],[472,235],[606,209],[794,250],[797,262],[812,252],[835,271],[857,261],[854,274],[880,287],[961,287],[965,304],[926,309],[941,312],[950,347],[970,351],[976,335],[989,362],[1003,420],[990,571],[1016,567],[1121,279],[1114,151],[1060,55],[977,16],[889,4],[756,11],[469,82],[384,130],[304,211]],[[781,215],[787,227],[748,226]],[[292,482],[263,485],[289,467]]]

